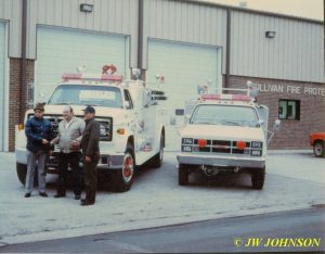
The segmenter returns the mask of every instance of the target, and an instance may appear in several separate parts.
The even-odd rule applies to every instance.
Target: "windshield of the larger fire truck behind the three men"
[[[62,85],[53,92],[51,105],[96,105],[122,107],[120,89],[117,87]]]

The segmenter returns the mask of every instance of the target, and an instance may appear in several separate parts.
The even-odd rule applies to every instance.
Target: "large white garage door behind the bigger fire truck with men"
[[[101,73],[105,64],[117,66],[117,74],[128,77],[128,37],[75,29],[39,27],[35,66],[35,101],[51,96],[63,73]],[[44,94],[44,99],[40,94]]]

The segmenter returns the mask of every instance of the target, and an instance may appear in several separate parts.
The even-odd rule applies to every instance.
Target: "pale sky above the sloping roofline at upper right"
[[[324,21],[324,0],[203,0],[227,5],[239,7],[246,2],[246,8],[308,17]]]

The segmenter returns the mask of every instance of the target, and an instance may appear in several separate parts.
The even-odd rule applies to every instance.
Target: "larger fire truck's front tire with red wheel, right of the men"
[[[131,189],[135,174],[135,160],[133,147],[127,145],[123,166],[121,169],[113,172],[113,190],[116,192],[126,192]]]

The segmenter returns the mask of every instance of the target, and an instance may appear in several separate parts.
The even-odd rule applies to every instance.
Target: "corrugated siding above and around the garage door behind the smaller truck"
[[[144,0],[143,59],[148,38],[222,47],[226,45],[226,11],[194,3]],[[223,54],[225,69],[225,54]]]

